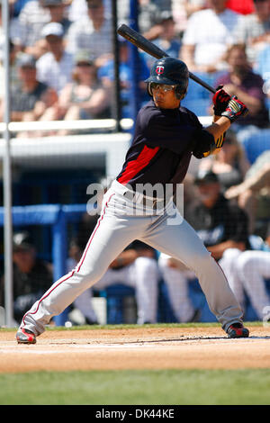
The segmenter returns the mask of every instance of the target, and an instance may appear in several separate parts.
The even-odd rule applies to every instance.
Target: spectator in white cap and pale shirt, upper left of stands
[[[71,82],[74,58],[65,49],[64,29],[60,23],[48,23],[41,35],[46,39],[49,51],[37,61],[38,79],[59,94]]]

